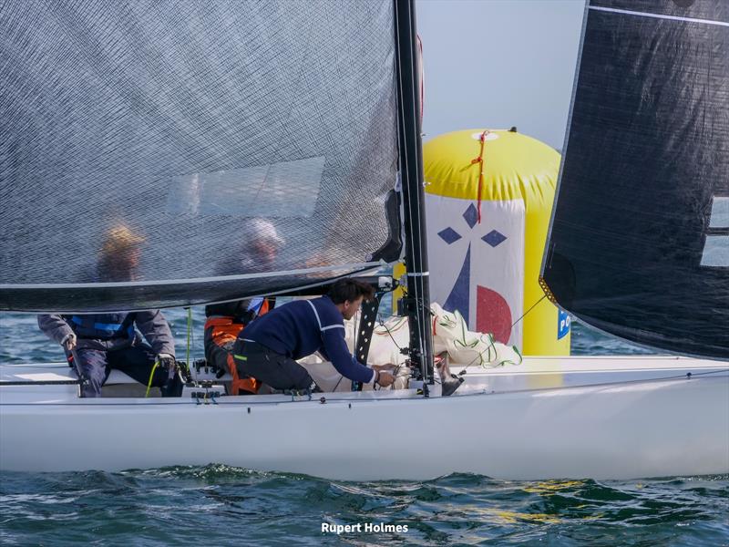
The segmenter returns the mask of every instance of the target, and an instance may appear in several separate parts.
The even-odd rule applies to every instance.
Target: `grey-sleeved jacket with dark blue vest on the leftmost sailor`
[[[57,344],[61,344],[67,335],[75,334],[78,348],[105,351],[137,346],[142,340],[141,333],[155,354],[175,356],[172,331],[159,310],[95,315],[38,315],[38,326]]]

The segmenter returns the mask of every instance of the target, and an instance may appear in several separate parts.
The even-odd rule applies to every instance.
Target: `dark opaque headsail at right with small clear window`
[[[603,331],[729,358],[729,3],[590,1],[542,278]]]

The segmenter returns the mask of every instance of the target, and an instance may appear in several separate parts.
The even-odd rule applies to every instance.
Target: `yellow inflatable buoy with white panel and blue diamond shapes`
[[[525,355],[569,355],[569,316],[539,288],[560,154],[516,129],[455,131],[423,152],[431,300]]]

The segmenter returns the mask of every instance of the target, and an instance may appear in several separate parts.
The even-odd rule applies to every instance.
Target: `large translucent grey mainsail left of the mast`
[[[392,0],[0,5],[0,310],[217,302],[397,259],[394,27]]]

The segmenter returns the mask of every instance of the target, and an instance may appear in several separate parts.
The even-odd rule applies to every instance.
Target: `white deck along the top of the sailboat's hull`
[[[693,359],[680,356],[541,356],[526,357],[519,366],[498,366],[495,368],[482,368],[480,366],[459,367],[451,365],[451,372],[459,374],[465,380],[457,389],[454,396],[468,394],[498,394],[519,391],[533,391],[565,387],[593,387],[611,384],[624,384],[642,382],[646,380],[664,380],[675,378],[726,376],[729,377],[729,363],[709,359]],[[258,396],[225,396],[224,383],[229,376],[215,378],[211,373],[200,373],[193,377],[197,381],[208,380],[213,387],[208,392],[218,392],[222,397],[215,397],[216,404],[226,402],[261,403],[286,402],[292,400],[308,400],[308,397],[291,397],[289,395],[258,395]],[[19,365],[1,365],[0,382],[37,382],[37,384],[6,385],[0,384],[0,405],[3,404],[58,404],[72,400],[83,400],[96,404],[125,402],[135,404],[144,403],[149,399],[157,399],[159,403],[159,390],[153,388],[149,397],[145,397],[146,387],[142,386],[124,373],[113,370],[103,390],[103,397],[99,399],[80,399],[76,384],[61,384],[75,380],[76,375],[66,363],[28,363]],[[185,387],[180,398],[165,399],[167,403],[186,402],[200,404],[204,399],[195,397],[195,394],[204,393],[201,387]],[[440,397],[440,387],[436,378],[436,385],[429,389],[431,397]],[[334,393],[315,394],[314,400],[322,397],[328,400],[363,400],[385,398],[412,398],[422,397],[416,388],[411,389],[365,389],[361,392],[340,390]],[[130,400],[130,399],[133,399]]]

